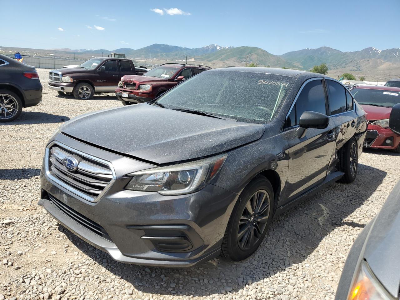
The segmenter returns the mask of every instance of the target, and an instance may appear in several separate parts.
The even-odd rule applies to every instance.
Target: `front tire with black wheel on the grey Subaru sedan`
[[[250,210],[253,210],[251,214]],[[273,212],[272,185],[264,176],[256,176],[244,188],[235,204],[222,240],[222,255],[234,261],[244,260],[252,255],[264,239]]]

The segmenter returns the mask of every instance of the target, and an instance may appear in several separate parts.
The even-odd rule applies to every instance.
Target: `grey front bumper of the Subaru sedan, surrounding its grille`
[[[212,184],[181,196],[124,190],[130,180],[125,176],[128,168],[151,165],[63,134],[57,139],[112,162],[116,172],[112,186],[95,203],[52,182],[46,172],[41,173],[42,199],[38,204],[68,230],[114,260],[130,264],[190,267],[218,256],[236,194]]]

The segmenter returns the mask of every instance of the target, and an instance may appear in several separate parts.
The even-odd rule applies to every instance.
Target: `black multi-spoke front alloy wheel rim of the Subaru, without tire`
[[[239,220],[237,241],[240,249],[252,248],[262,237],[270,215],[270,197],[258,190],[246,202]]]

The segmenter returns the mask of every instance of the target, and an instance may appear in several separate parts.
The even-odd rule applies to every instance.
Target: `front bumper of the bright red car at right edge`
[[[400,136],[394,133],[390,128],[368,124],[364,147],[378,149],[396,149],[400,143]]]

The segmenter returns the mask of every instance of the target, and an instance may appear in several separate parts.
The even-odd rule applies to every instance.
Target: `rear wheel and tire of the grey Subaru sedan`
[[[357,140],[351,138],[338,151],[338,170],[344,175],[338,181],[342,183],[351,183],[356,179],[358,171],[358,146]]]

